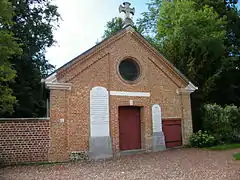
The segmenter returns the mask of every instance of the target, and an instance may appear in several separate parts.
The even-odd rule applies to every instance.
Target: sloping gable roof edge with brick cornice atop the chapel
[[[89,55],[93,54],[94,52],[96,52],[97,50],[102,49],[102,47],[107,46],[109,43],[111,43],[112,41],[117,39],[117,37],[119,37],[119,36],[121,37],[121,35],[125,34],[126,32],[131,32],[132,34],[134,34],[138,38],[138,40],[140,40],[146,46],[146,48],[148,48],[153,54],[155,54],[158,57],[160,57],[161,59],[163,59],[163,62],[165,63],[165,65],[167,65],[172,70],[173,73],[175,73],[178,77],[180,77],[180,79],[182,79],[184,82],[186,82],[186,84],[191,85],[191,88],[193,88],[195,90],[198,89],[171,62],[169,62],[162,54],[160,54],[159,51],[156,50],[140,33],[135,31],[134,28],[131,25],[128,25],[128,26],[124,27],[123,29],[121,29],[120,31],[115,33],[114,35],[106,38],[105,40],[96,44],[95,46],[93,46],[92,48],[83,52],[79,56],[75,57],[71,61],[67,62],[66,64],[64,64],[60,68],[56,69],[53,73],[51,73],[49,76],[47,76],[43,80],[43,82],[53,81],[53,79],[55,80],[56,79],[56,77],[55,77],[56,73],[61,73],[62,71],[67,70],[69,67],[76,64],[78,61],[81,61],[81,60],[85,59],[84,58],[85,56],[89,56]]]

